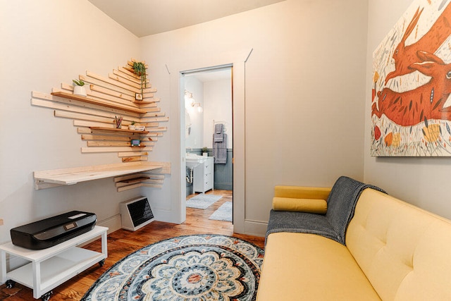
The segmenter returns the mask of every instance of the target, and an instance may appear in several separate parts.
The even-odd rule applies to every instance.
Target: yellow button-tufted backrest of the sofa
[[[367,188],[346,245],[382,300],[451,300],[451,221]]]

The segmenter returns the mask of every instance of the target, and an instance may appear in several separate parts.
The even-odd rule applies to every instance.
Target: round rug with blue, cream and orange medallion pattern
[[[156,242],[111,266],[82,301],[255,300],[263,250],[226,235]]]

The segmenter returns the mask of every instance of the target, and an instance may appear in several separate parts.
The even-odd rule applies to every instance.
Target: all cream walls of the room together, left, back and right
[[[371,52],[409,3],[287,0],[137,39],[87,1],[2,1],[0,38],[9,47],[3,47],[0,69],[0,242],[13,226],[70,209],[109,219],[118,202],[142,192],[157,218],[183,221],[178,161],[161,190],[117,193],[111,179],[33,190],[32,171],[118,158],[80,154],[83,143],[71,121],[32,107],[32,90],[50,92],[85,70],[105,75],[130,57],[145,59],[161,110],[171,118],[150,160],[171,161],[185,147],[175,139],[183,121],[177,113],[180,71],[246,59],[250,49],[243,129],[247,233],[264,233],[274,185],[330,186],[340,175],[449,216],[445,189],[439,189],[450,170],[447,159],[369,156]],[[395,176],[398,171],[404,177]]]

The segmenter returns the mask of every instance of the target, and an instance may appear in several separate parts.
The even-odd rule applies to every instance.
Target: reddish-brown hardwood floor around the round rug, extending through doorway
[[[173,238],[180,235],[214,233],[230,235],[242,238],[249,242],[264,247],[264,238],[251,235],[240,235],[233,233],[233,225],[226,221],[209,220],[209,216],[214,213],[218,207],[224,202],[232,201],[232,193],[228,190],[214,190],[206,192],[206,194],[223,195],[222,199],[215,202],[207,209],[187,208],[186,221],[180,225],[175,223],[163,223],[161,221],[153,221],[149,225],[132,232],[127,230],[118,230],[108,235],[108,258],[104,266],[98,264],[90,269],[73,277],[66,283],[54,288],[54,294],[51,295],[51,301],[58,300],[80,300],[89,287],[109,269],[113,264],[131,252],[138,250],[146,245],[150,245],[160,240]],[[190,195],[187,198],[193,197]],[[101,250],[100,240],[91,242],[86,246],[90,250]],[[23,285],[16,284],[14,288],[6,288],[6,285],[0,286],[0,300],[5,301],[23,301],[35,300],[32,296],[32,290],[25,288]]]

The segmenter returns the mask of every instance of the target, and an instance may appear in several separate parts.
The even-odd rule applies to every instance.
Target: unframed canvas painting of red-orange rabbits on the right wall
[[[416,0],[373,52],[371,156],[451,156],[451,0]]]

